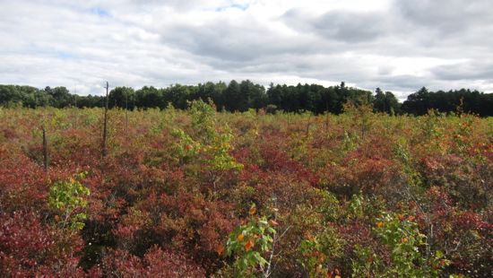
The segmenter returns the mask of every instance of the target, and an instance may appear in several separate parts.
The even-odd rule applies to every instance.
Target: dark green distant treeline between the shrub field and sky
[[[102,91],[102,90],[101,90]],[[227,83],[199,83],[198,85],[175,84],[167,88],[145,86],[139,90],[117,87],[109,92],[109,108],[147,109],[166,108],[171,103],[177,109],[186,109],[189,100],[211,99],[219,110],[246,111],[247,109],[283,110],[287,112],[312,111],[315,114],[329,111],[342,113],[344,103],[356,105],[373,104],[376,112],[389,114],[423,115],[428,109],[440,112],[473,113],[481,117],[493,116],[493,94],[461,89],[458,91],[428,91],[425,87],[408,96],[400,103],[391,91],[376,92],[352,88],[341,83],[324,87],[317,84],[296,86],[271,84],[264,86],[242,81]],[[102,96],[79,96],[65,87],[46,87],[39,90],[30,86],[0,85],[0,106],[36,108],[102,107]]]

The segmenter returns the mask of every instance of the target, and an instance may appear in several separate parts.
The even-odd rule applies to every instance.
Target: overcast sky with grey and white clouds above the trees
[[[493,91],[491,0],[0,0],[0,83]]]

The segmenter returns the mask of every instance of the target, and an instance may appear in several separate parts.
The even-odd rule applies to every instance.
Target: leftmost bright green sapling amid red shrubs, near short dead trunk
[[[83,221],[87,218],[83,210],[87,206],[86,197],[91,194],[89,188],[81,183],[86,173],[82,172],[75,178],[56,181],[49,188],[48,205],[56,211],[56,222],[62,227],[70,225],[73,230],[82,230]]]

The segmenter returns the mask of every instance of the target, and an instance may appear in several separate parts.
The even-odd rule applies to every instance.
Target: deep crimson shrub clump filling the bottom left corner
[[[37,213],[0,214],[1,275],[82,276],[81,249],[76,233],[42,224]]]

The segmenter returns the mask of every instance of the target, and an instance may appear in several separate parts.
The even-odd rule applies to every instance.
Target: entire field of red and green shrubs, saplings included
[[[493,276],[493,118],[344,110],[0,109],[0,276]]]

